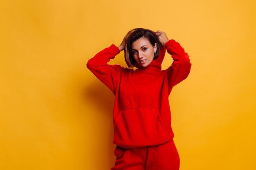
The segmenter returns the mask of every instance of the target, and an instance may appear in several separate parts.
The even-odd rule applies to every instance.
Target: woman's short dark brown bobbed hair
[[[135,42],[139,38],[146,38],[152,46],[155,46],[155,43],[157,43],[157,51],[156,51],[156,53],[154,53],[153,60],[155,60],[159,56],[160,46],[162,44],[159,41],[157,35],[153,31],[151,31],[149,29],[135,28],[129,32],[131,32],[131,34],[127,38],[126,45],[124,48],[124,58],[125,58],[127,66],[129,68],[133,68],[136,64],[136,61],[134,60],[133,55],[132,55],[132,42]]]

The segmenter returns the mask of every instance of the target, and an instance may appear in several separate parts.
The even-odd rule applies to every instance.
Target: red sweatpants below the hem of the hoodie
[[[179,170],[180,157],[173,140],[140,148],[116,146],[117,157],[111,170]]]

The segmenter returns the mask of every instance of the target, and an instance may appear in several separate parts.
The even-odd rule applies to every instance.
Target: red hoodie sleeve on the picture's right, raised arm
[[[185,53],[182,46],[178,42],[175,42],[175,40],[166,42],[164,48],[173,58],[173,63],[166,70],[170,93],[173,86],[188,77],[191,63],[188,53]]]

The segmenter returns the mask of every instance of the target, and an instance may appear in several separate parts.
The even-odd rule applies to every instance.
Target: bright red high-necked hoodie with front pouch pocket
[[[173,63],[161,71],[165,52]],[[161,46],[159,57],[144,68],[124,68],[107,64],[120,53],[112,44],[91,58],[87,67],[115,95],[113,143],[124,147],[163,144],[173,139],[168,96],[173,86],[186,79],[189,55],[175,40]]]

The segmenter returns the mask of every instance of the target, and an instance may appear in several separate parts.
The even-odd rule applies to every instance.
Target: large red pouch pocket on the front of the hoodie
[[[158,108],[125,108],[114,120],[114,144],[141,147],[162,144],[167,135]]]

